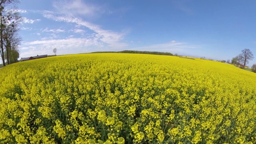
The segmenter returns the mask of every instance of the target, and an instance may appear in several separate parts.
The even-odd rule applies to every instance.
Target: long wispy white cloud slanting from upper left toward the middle
[[[104,30],[100,26],[96,24],[92,24],[88,21],[83,20],[79,17],[79,14],[81,14],[78,11],[72,12],[72,10],[69,13],[72,14],[66,14],[66,6],[71,6],[72,8],[80,9],[80,5],[82,6],[88,6],[87,4],[84,4],[81,0],[71,0],[71,1],[58,1],[60,4],[54,3],[54,7],[56,8],[56,12],[51,11],[44,11],[43,16],[45,18],[49,18],[55,21],[60,22],[67,22],[67,23],[74,23],[78,26],[84,26],[88,28],[89,30],[92,30],[96,33],[95,38],[99,42],[103,42],[108,44],[110,47],[125,47],[128,46],[128,44],[121,42],[124,38],[124,36],[128,33],[128,31],[123,32],[114,32],[112,30]],[[65,5],[62,7],[61,5]],[[79,5],[79,6],[78,6]],[[95,7],[95,6],[94,6]],[[81,8],[81,10],[85,10],[86,8]],[[94,9],[94,8],[92,8]],[[93,13],[94,10],[89,8],[88,12],[84,12],[84,14],[90,14]],[[90,12],[89,12],[90,11]],[[76,32],[81,32],[81,30],[76,30]]]

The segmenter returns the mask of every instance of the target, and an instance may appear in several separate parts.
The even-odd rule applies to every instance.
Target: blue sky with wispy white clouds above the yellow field
[[[22,0],[20,58],[146,50],[256,57],[255,0]],[[249,66],[256,63],[256,58]]]

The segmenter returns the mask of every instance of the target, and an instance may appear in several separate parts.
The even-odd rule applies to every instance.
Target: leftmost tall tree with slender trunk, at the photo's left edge
[[[4,41],[3,41],[3,32],[5,27],[5,22],[8,19],[6,16],[6,11],[4,9],[8,7],[9,5],[16,5],[19,2],[19,0],[0,0],[0,54],[2,57],[3,65],[5,66],[4,61]]]

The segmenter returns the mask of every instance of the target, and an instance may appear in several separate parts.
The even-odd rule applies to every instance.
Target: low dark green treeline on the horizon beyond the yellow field
[[[170,52],[149,52],[149,51],[137,51],[137,50],[123,50],[119,52],[91,52],[91,53],[129,53],[129,54],[156,54],[156,55],[173,56],[173,54]]]

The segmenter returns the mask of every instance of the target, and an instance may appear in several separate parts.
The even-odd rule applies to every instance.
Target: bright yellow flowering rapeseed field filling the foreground
[[[0,143],[255,144],[256,74],[149,54],[18,62],[0,69]]]

